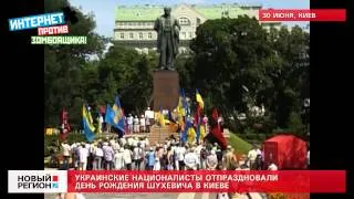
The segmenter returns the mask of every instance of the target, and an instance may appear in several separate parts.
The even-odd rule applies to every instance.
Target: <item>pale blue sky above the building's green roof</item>
[[[117,4],[178,4],[178,3],[261,3],[263,8],[274,9],[309,9],[310,0],[70,0],[71,4],[82,8],[84,13],[93,12],[96,20],[96,32],[113,36],[114,11]],[[289,25],[300,24],[304,27],[305,22],[287,22]]]

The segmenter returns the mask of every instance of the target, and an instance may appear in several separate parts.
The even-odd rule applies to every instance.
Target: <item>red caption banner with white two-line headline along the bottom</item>
[[[67,192],[345,192],[344,170],[67,171]]]

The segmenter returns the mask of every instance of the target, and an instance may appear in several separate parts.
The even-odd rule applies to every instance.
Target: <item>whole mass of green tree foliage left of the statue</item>
[[[65,0],[45,1],[45,11],[55,12],[70,6]],[[107,39],[94,32],[93,14],[76,9],[79,22],[69,22],[70,34],[87,35],[87,45],[44,46],[44,124],[60,125],[60,112],[67,108],[70,122],[81,125],[84,103],[94,109],[113,104],[119,94],[124,107],[137,112],[148,103],[152,92],[154,55],[143,56],[135,51],[111,48],[103,56]],[[92,60],[97,56],[98,61]],[[132,97],[139,96],[139,97]]]

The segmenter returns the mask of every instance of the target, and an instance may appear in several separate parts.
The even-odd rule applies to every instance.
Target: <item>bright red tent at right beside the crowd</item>
[[[264,142],[266,166],[273,161],[278,169],[305,169],[308,145],[293,135],[278,135]]]

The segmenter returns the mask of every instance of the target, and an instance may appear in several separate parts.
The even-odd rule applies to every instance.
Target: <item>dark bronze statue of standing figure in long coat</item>
[[[154,30],[157,32],[157,50],[159,54],[159,69],[174,70],[174,61],[178,54],[179,23],[170,15],[170,8],[156,19]]]

